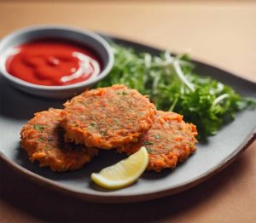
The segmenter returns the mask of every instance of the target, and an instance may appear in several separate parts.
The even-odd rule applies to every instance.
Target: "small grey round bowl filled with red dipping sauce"
[[[0,42],[0,78],[50,99],[67,99],[92,88],[108,75],[113,60],[103,37],[70,26],[27,27]]]

